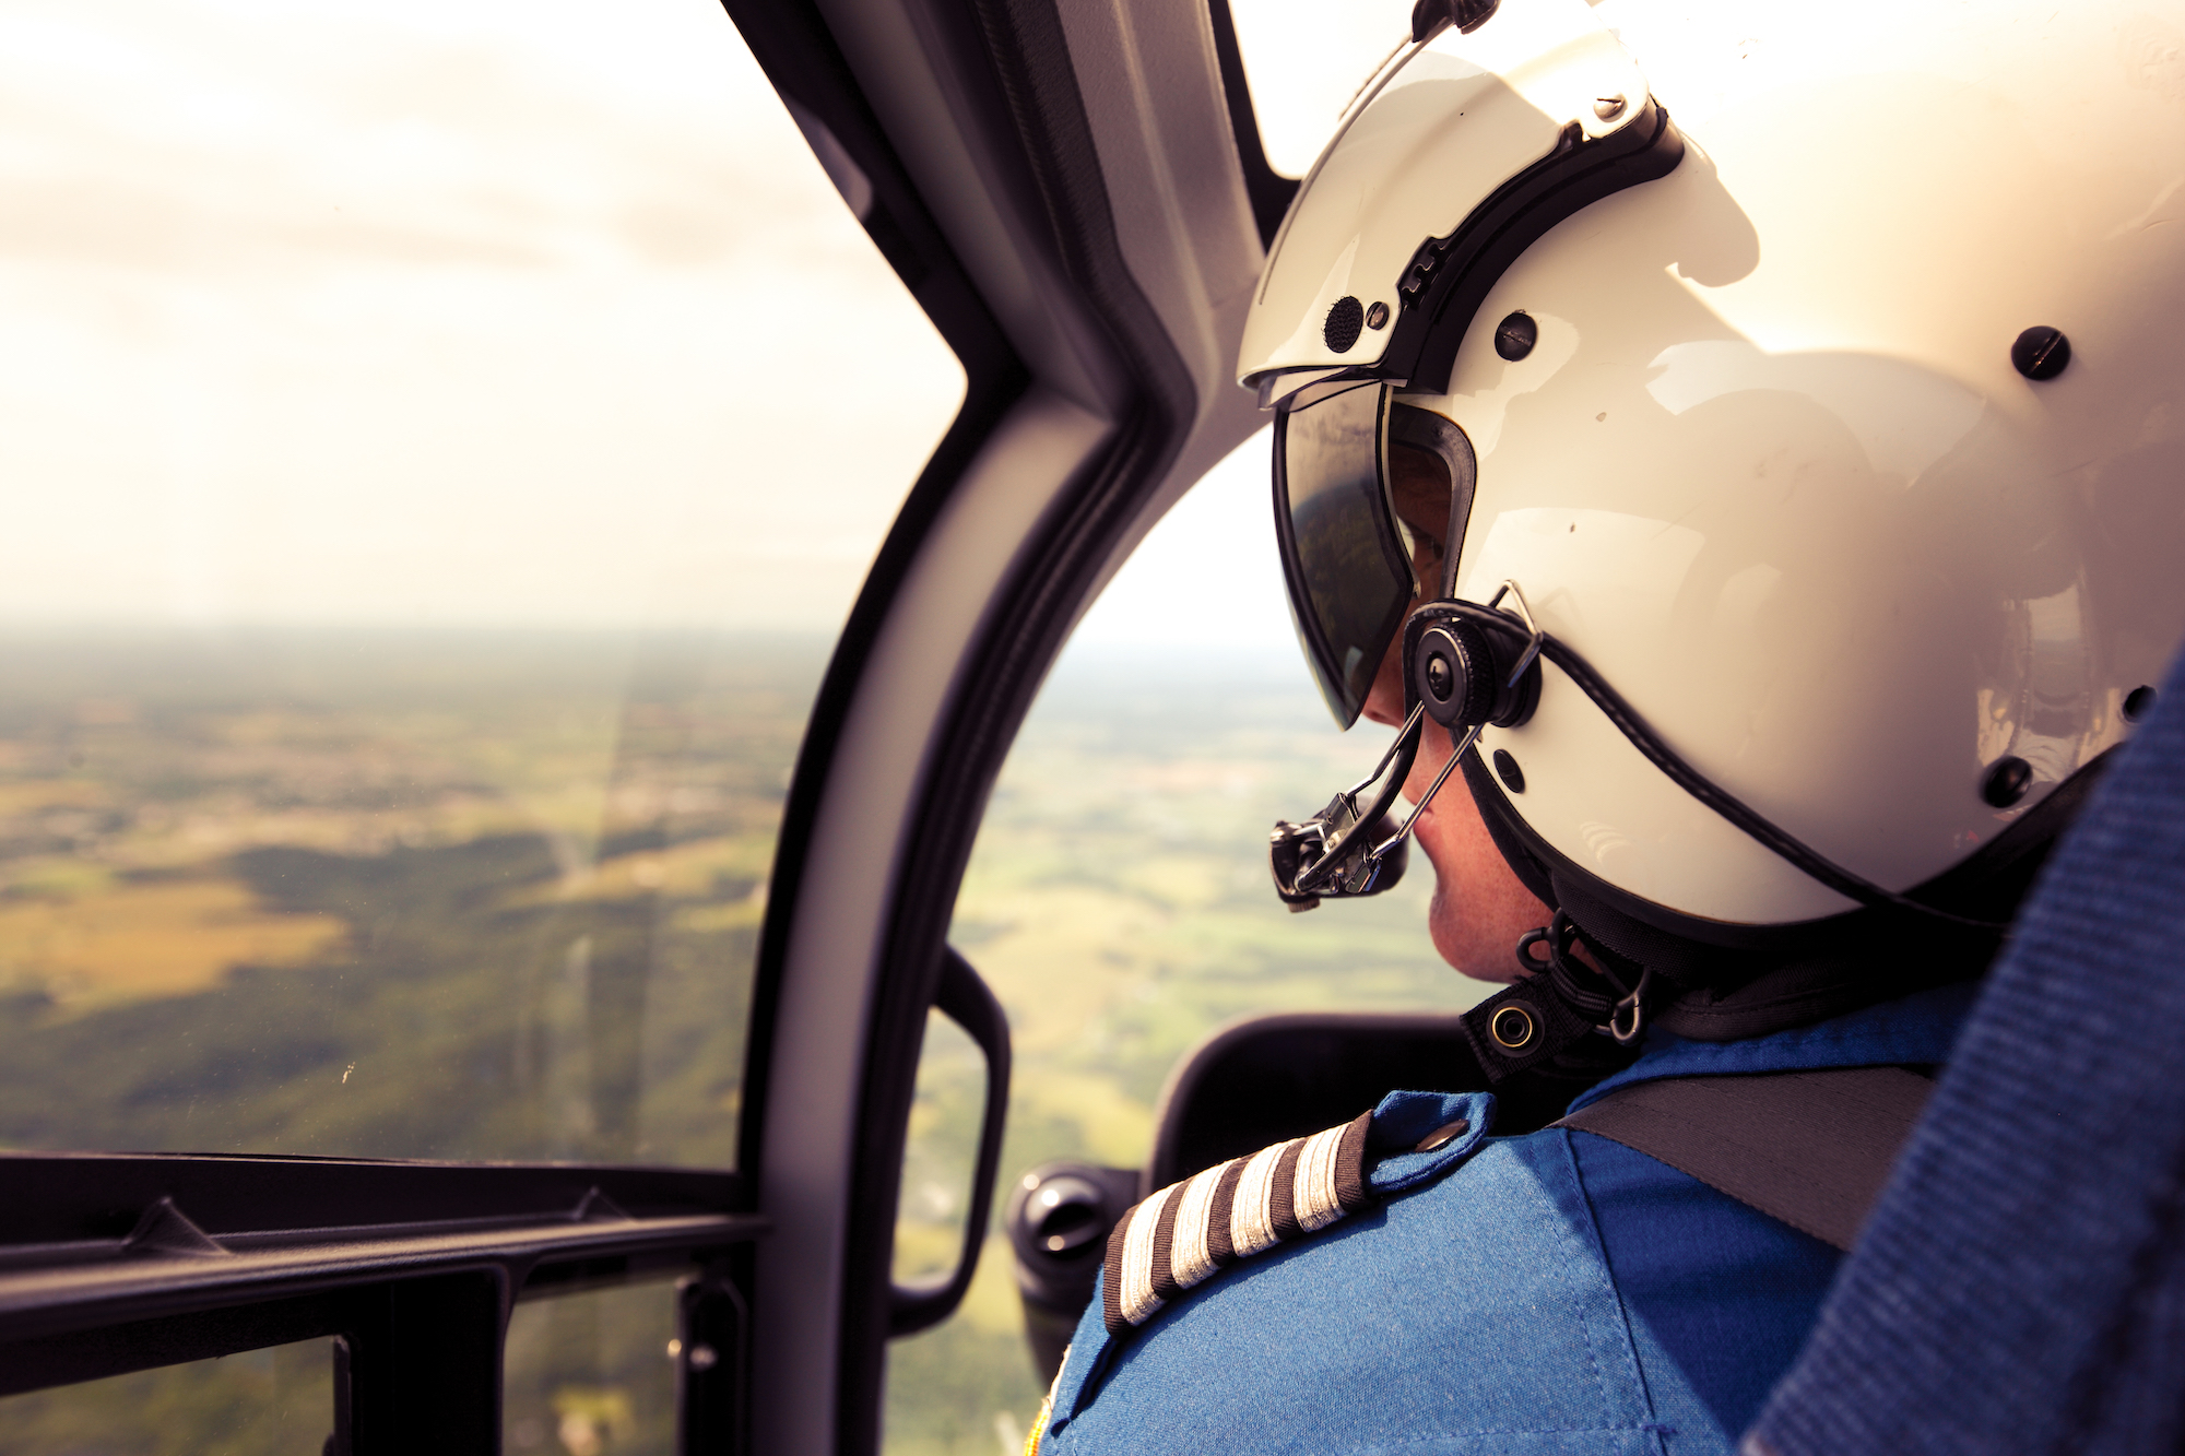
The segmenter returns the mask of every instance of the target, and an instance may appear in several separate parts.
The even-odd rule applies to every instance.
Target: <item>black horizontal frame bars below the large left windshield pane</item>
[[[0,1395],[332,1336],[328,1449],[498,1452],[518,1299],[677,1279],[684,1449],[739,1449],[739,1172],[0,1154]],[[664,1294],[666,1296],[666,1294]]]

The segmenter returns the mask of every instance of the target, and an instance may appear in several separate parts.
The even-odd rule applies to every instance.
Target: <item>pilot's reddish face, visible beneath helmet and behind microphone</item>
[[[1427,450],[1392,444],[1390,494],[1396,514],[1418,531],[1418,577],[1429,592],[1436,592],[1442,575],[1442,536],[1449,529],[1446,468]],[[1403,721],[1401,634],[1381,658],[1381,673],[1366,695],[1366,717],[1390,726]],[[1427,724],[1412,776],[1403,785],[1412,802],[1418,802],[1449,763],[1449,735]],[[1418,815],[1418,846],[1433,861],[1433,905],[1427,909],[1433,949],[1451,966],[1481,982],[1516,979],[1519,936],[1547,925],[1554,912],[1536,901],[1503,861],[1462,776],[1442,785]]]

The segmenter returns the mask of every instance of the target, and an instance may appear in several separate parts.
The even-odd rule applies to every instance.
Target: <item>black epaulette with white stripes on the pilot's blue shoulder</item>
[[[1372,1113],[1171,1183],[1108,1235],[1101,1279],[1108,1334],[1143,1325],[1230,1264],[1326,1229],[1372,1202],[1366,1135]]]

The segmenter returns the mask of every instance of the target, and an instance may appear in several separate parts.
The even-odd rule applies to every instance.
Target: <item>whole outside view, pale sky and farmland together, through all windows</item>
[[[1328,66],[1324,31],[1287,72],[1320,133],[1370,59]],[[782,796],[955,354],[719,7],[26,4],[0,33],[0,181],[61,243],[0,249],[0,1150],[732,1165]],[[843,337],[887,374],[854,411],[811,387]],[[1248,455],[1167,571],[1278,632]],[[1171,636],[1171,599],[1138,612]],[[1420,883],[1265,894],[1267,824],[1359,737],[1294,656],[1073,647],[953,931],[1016,1032],[1005,1178],[1138,1161],[1230,1017],[1464,997]],[[950,1038],[905,1277],[964,1218],[981,1082]],[[666,1452],[669,1312],[518,1305],[505,1449]],[[330,1390],[312,1340],[0,1397],[0,1452],[315,1456]],[[990,1242],[894,1349],[887,1449],[1014,1452],[1038,1397]]]

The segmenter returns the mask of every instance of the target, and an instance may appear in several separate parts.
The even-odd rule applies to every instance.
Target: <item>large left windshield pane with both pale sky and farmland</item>
[[[33,0],[0,107],[0,1148],[732,1165],[964,374],[728,15]]]

